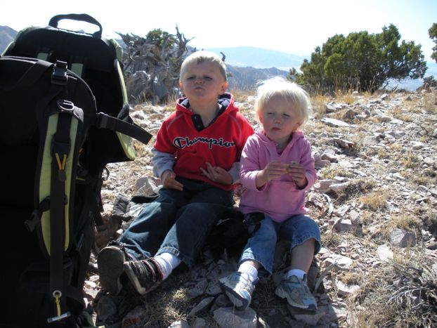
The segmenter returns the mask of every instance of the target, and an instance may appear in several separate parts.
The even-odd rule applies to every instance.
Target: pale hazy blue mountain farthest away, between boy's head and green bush
[[[234,48],[207,48],[204,50],[212,51],[218,55],[224,53],[224,55],[226,55],[225,62],[237,67],[276,67],[280,70],[288,71],[291,67],[298,69],[301,67],[304,59],[306,59],[306,57],[299,55],[249,46]]]

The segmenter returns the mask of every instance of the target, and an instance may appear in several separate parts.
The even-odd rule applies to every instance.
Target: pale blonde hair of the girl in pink
[[[301,126],[308,122],[313,112],[310,96],[301,86],[294,82],[287,81],[283,77],[273,77],[259,84],[254,105],[256,119],[259,120],[261,110],[273,96],[285,98],[289,103],[296,106],[296,110],[299,112],[301,119]]]

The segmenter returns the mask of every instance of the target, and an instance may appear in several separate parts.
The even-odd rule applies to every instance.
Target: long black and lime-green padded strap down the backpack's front
[[[41,249],[49,258],[48,292],[56,306],[56,315],[48,318],[51,321],[62,320],[68,315],[63,268],[65,251],[71,247],[73,239],[70,235],[72,183],[84,128],[83,110],[67,100],[68,86],[76,81],[67,74],[67,63],[56,62],[48,95],[37,104],[40,144],[35,197],[37,204],[47,201],[49,204],[48,210],[41,212],[38,232]]]

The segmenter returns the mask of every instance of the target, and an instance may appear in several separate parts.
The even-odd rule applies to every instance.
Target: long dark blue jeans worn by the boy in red
[[[162,188],[120,237],[137,260],[164,252],[191,267],[223,211],[233,206],[233,191],[209,183],[176,178],[183,191]]]

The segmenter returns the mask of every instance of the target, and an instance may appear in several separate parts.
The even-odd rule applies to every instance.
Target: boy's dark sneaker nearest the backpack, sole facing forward
[[[97,256],[98,275],[100,286],[113,295],[118,295],[122,290],[120,276],[123,273],[123,263],[127,254],[123,247],[107,246]]]

